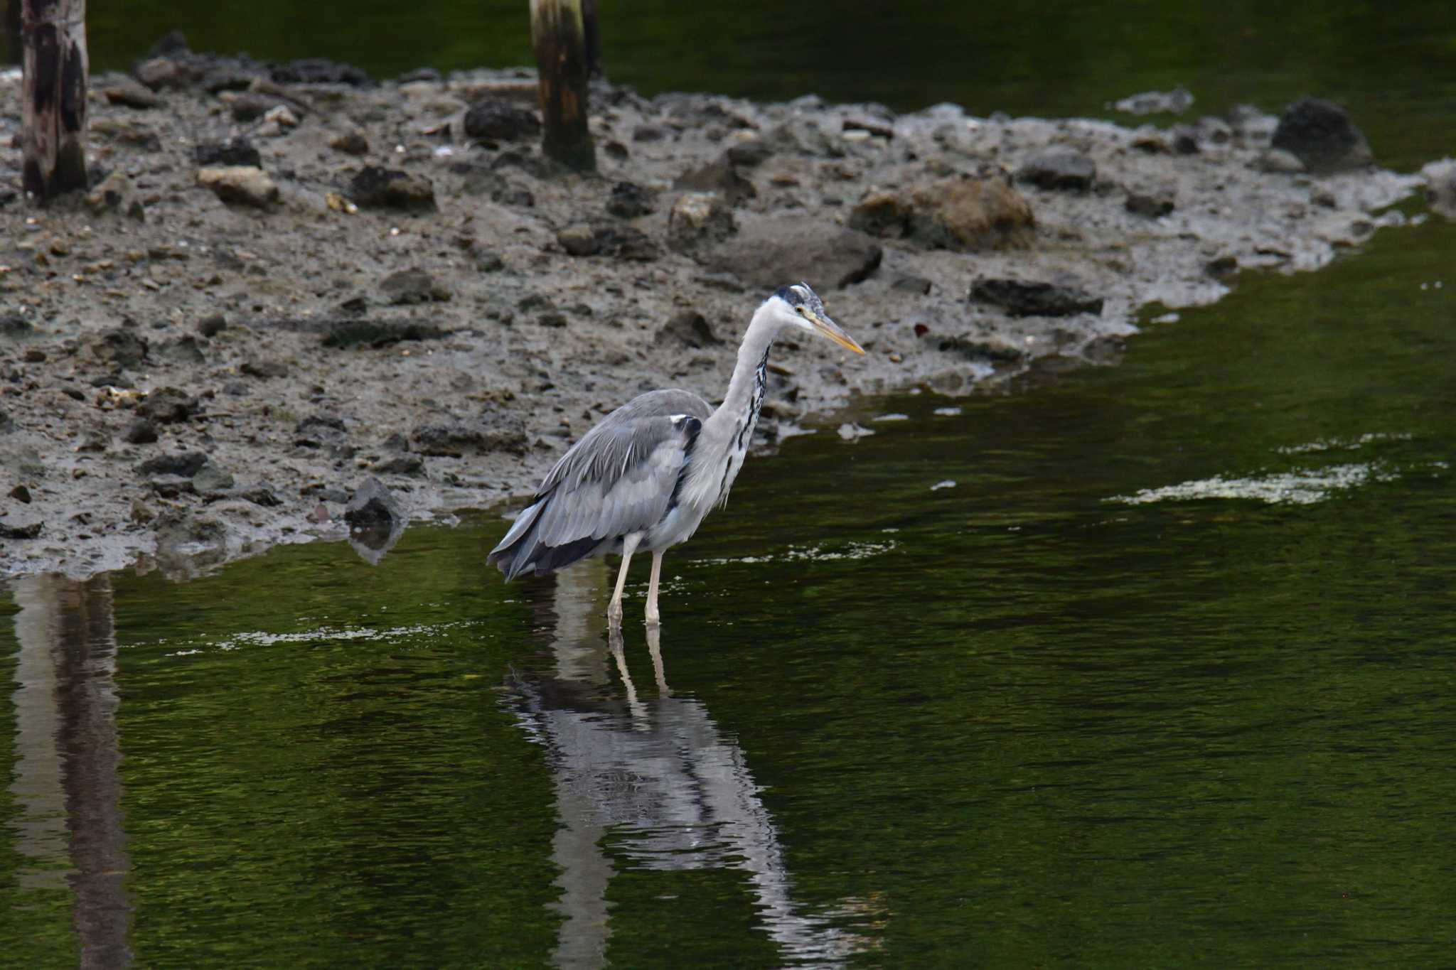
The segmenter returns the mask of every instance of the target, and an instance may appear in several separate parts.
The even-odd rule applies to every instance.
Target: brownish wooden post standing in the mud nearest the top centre
[[[531,0],[531,45],[540,73],[542,151],[577,172],[596,172],[587,131],[587,39],[581,0]]]

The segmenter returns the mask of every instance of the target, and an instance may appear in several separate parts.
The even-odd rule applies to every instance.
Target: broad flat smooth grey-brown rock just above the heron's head
[[[869,236],[796,215],[756,218],[732,239],[696,256],[712,270],[773,289],[786,279],[815,289],[858,284],[879,268],[884,250]]]

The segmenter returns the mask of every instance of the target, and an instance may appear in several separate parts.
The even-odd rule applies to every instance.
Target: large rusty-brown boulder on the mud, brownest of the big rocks
[[[929,249],[1019,249],[1032,239],[1031,205],[999,166],[909,192],[871,189],[849,214],[850,228],[910,239]]]

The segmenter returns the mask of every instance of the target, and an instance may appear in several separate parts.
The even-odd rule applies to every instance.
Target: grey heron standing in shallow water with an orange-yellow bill
[[[692,391],[665,390],[612,412],[546,474],[486,561],[511,580],[529,570],[542,576],[591,556],[620,553],[607,606],[607,618],[619,624],[632,554],[652,553],[646,622],[660,622],[662,553],[728,502],[763,406],[769,348],[785,329],[865,352],[830,318],[808,284],[780,286],[748,323],[722,404],[713,409]]]

